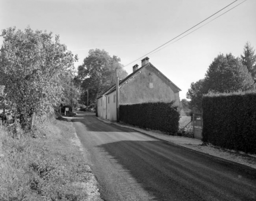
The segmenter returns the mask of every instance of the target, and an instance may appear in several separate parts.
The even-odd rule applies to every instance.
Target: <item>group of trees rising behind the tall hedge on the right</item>
[[[231,53],[219,54],[210,64],[205,77],[192,82],[186,97],[190,108],[201,109],[201,100],[208,92],[229,93],[255,90],[256,88],[256,54],[250,43],[244,46],[243,55],[235,58]]]

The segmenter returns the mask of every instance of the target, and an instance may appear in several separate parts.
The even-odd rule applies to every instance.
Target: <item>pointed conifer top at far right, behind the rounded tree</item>
[[[256,54],[249,42],[244,47],[244,55],[241,55],[242,63],[247,67],[256,82]]]

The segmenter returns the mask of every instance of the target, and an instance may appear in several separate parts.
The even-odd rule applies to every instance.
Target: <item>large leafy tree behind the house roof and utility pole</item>
[[[116,83],[116,68],[119,68],[119,78],[127,76],[120,64],[120,58],[111,57],[105,50],[90,50],[89,55],[78,67],[78,80],[83,89],[83,102],[86,102],[87,89],[89,90],[89,102],[95,102],[97,96]]]

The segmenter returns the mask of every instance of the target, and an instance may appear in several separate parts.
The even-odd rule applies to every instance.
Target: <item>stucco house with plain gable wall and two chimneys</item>
[[[170,79],[155,68],[146,57],[141,67],[136,64],[133,72],[119,81],[119,105],[132,105],[148,102],[171,102],[179,105],[179,92]],[[98,116],[116,121],[116,85],[110,87],[97,98]]]

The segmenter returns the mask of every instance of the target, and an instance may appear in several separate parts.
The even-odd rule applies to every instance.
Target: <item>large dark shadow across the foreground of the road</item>
[[[256,170],[245,166],[164,141],[124,140],[97,148],[128,170],[157,201],[255,198]]]

